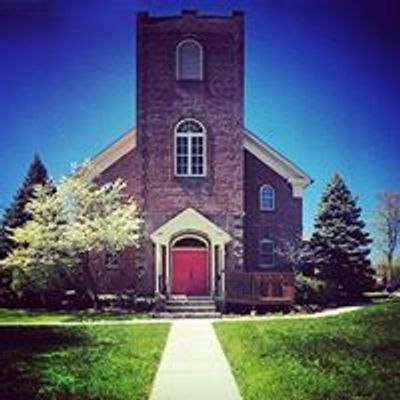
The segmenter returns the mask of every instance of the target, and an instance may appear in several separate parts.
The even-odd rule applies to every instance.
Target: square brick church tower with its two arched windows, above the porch
[[[229,229],[243,212],[243,14],[139,13],[137,60],[149,231],[187,207]]]

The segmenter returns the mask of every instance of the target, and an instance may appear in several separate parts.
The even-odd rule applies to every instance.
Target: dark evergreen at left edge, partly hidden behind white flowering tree
[[[0,260],[16,248],[11,237],[10,229],[23,226],[29,219],[29,213],[25,206],[32,198],[33,188],[38,184],[50,184],[46,167],[40,160],[38,155],[34,159],[28,169],[25,179],[14,196],[10,207],[5,211],[0,222]],[[11,290],[11,273],[7,270],[0,271],[0,302],[9,304],[12,302],[14,293]]]

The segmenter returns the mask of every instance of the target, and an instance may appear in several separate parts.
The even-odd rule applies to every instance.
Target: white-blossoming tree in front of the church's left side
[[[37,186],[27,204],[30,220],[12,229],[19,246],[1,262],[12,269],[14,288],[42,291],[82,277],[98,308],[98,279],[89,254],[118,252],[140,239],[138,210],[124,188],[120,179],[98,186],[79,173],[62,180],[56,191]]]

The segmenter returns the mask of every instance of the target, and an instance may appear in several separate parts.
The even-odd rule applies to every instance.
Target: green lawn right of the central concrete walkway
[[[399,301],[215,328],[245,400],[400,399]]]

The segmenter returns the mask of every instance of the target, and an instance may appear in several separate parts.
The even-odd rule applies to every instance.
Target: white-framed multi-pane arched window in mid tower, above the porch
[[[206,130],[195,119],[186,118],[175,128],[175,175],[205,176]]]

